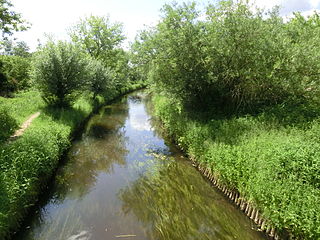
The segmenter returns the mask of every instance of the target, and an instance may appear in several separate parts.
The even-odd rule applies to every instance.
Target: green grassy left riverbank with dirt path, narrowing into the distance
[[[72,136],[103,104],[127,92],[141,88],[136,84],[93,103],[83,96],[69,109],[46,108],[38,92],[1,98],[1,105],[15,120],[16,128],[30,114],[41,111],[24,134],[13,142],[0,145],[0,238],[19,227],[30,206],[46,186],[60,157],[70,147]],[[11,129],[13,131],[15,129]]]

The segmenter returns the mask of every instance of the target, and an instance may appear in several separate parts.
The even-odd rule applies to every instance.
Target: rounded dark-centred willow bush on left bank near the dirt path
[[[35,55],[32,76],[49,105],[70,106],[87,84],[86,65],[76,46],[50,41]]]

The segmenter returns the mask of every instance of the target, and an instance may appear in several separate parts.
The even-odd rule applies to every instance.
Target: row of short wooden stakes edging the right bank
[[[234,190],[228,189],[224,184],[215,177],[211,171],[192,160],[193,166],[195,166],[209,181],[223,192],[234,204],[236,204],[241,211],[243,211],[256,225],[260,231],[265,232],[271,239],[280,240],[279,234],[276,229],[262,217],[261,213],[257,208],[252,206],[246,199]]]

